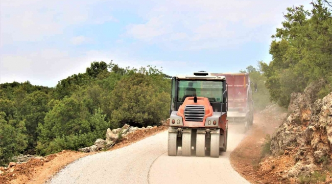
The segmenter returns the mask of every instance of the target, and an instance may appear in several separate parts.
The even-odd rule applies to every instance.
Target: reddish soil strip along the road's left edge
[[[128,134],[126,137],[123,137],[120,143],[117,143],[107,151],[128,146],[167,129],[167,126],[161,125],[159,127],[155,126],[152,129],[136,130],[133,133]],[[63,150],[62,152],[45,156],[44,160],[32,158],[27,163],[13,166],[8,171],[1,174],[0,183],[42,184],[66,165],[79,158],[96,153],[98,152],[82,153]]]

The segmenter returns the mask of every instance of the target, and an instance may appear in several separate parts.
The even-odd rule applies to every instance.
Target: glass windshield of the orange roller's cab
[[[178,101],[186,97],[206,97],[210,102],[222,102],[223,81],[179,80]]]

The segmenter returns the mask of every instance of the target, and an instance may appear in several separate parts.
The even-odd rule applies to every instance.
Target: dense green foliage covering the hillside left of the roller
[[[55,88],[1,84],[0,164],[19,152],[46,155],[90,146],[109,127],[159,123],[168,116],[169,77],[151,66],[95,61]]]

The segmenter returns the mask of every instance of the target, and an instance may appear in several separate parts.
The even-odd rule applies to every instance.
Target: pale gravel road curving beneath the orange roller
[[[219,158],[168,156],[164,131],[121,149],[80,158],[46,183],[249,183],[229,162],[244,134],[232,131],[232,126],[228,132],[227,152]]]

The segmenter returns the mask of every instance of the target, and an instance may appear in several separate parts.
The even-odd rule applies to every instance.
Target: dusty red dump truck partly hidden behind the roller
[[[243,124],[244,131],[253,124],[253,101],[249,73],[212,73],[212,76],[225,76],[228,91],[229,124]],[[257,87],[254,85],[254,90]]]

